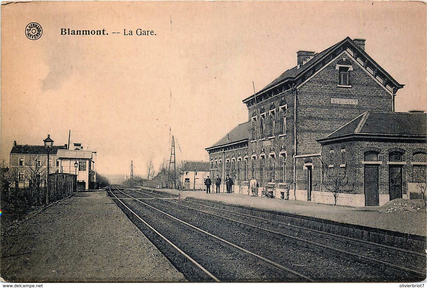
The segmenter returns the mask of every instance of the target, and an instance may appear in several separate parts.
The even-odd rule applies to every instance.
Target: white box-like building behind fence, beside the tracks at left
[[[77,190],[94,188],[96,170],[94,155],[96,152],[89,150],[58,150],[56,153],[60,173],[77,175]]]

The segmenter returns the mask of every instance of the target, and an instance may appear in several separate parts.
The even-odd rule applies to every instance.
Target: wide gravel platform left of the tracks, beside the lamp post
[[[15,226],[1,227],[2,281],[186,281],[106,191],[79,192]]]

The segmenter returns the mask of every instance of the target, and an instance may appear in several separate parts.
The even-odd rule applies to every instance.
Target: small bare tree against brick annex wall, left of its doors
[[[330,168],[327,164],[324,164],[323,176],[324,186],[332,193],[334,200],[333,205],[336,205],[339,194],[351,191],[348,187],[347,167]]]

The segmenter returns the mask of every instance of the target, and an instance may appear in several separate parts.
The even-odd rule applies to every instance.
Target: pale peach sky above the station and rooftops
[[[24,33],[43,27],[38,40]],[[61,28],[105,36],[60,35]],[[155,36],[137,36],[137,28]],[[123,35],[132,30],[132,36]],[[120,32],[112,34],[111,32]],[[426,109],[426,7],[421,2],[30,2],[1,7],[1,159],[13,141],[79,142],[102,174],[146,174],[170,158],[208,160],[248,120],[242,100],[345,37],[405,87],[396,111]],[[172,97],[170,93],[172,92]],[[321,107],[319,107],[321,109]],[[171,133],[170,133],[171,131]]]

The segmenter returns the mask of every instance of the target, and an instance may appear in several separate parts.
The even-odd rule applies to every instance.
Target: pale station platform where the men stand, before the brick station
[[[146,188],[146,187],[143,187]],[[181,199],[195,197],[199,199],[219,201],[239,206],[249,206],[257,209],[286,212],[296,215],[332,220],[368,226],[391,231],[426,236],[426,209],[385,209],[384,206],[349,207],[334,206],[324,203],[314,203],[301,200],[284,200],[277,198],[252,197],[247,194],[219,193],[207,194],[206,191],[178,191],[173,189],[151,189],[163,191],[172,195],[180,195]],[[388,212],[387,212],[388,211]]]

